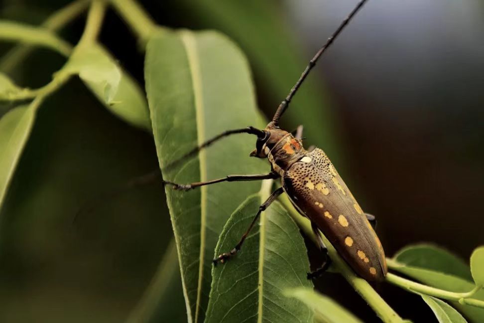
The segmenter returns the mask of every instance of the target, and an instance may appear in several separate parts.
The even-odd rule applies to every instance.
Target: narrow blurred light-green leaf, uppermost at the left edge
[[[64,56],[69,56],[71,52],[71,45],[58,38],[53,32],[39,26],[29,26],[20,22],[0,21],[0,39],[44,46]]]

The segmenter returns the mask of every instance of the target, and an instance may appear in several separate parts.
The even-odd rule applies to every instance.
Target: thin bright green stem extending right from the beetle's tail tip
[[[482,288],[482,286],[476,286],[472,291],[467,293],[455,293],[416,283],[400,276],[394,275],[392,273],[388,273],[388,275],[386,276],[386,281],[390,284],[393,284],[415,294],[425,294],[443,300],[457,301],[461,304],[468,304],[484,308],[484,301],[470,298],[474,294],[476,294],[476,292],[478,292]]]

